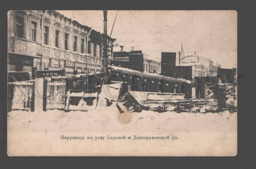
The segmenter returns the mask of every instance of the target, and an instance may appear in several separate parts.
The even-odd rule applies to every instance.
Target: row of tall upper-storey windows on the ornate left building
[[[55,47],[59,48],[59,36],[60,31],[55,30]],[[21,16],[16,16],[16,36],[18,38],[24,38],[24,19]],[[70,50],[69,45],[68,45],[68,39],[69,38],[69,33],[65,33],[65,50]],[[31,41],[36,42],[37,41],[37,22],[31,21]],[[74,41],[73,41],[73,51],[77,52],[77,41],[78,37],[74,36]],[[84,38],[81,38],[81,53],[84,53]],[[44,44],[49,44],[49,27],[44,26]],[[91,42],[88,42],[88,53],[96,55],[97,57],[101,57],[101,47],[98,44],[93,44],[91,45]]]

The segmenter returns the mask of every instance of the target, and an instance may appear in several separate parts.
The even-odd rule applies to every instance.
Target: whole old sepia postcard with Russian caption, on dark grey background
[[[9,156],[235,156],[236,11],[9,11]]]

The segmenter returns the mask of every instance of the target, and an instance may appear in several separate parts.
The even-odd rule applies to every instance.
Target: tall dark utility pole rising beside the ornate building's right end
[[[104,44],[104,55],[103,55],[103,73],[107,77],[107,10],[103,10],[104,15],[104,35],[103,35],[103,44]]]

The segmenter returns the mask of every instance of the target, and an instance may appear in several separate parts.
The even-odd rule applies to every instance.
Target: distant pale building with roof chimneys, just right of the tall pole
[[[129,52],[123,50],[123,46],[120,46],[120,51],[115,51],[113,54],[113,60],[116,61],[129,61],[129,54],[142,54],[143,55],[143,71],[151,73],[161,73],[161,62],[149,58],[149,55],[142,52],[142,50],[134,50],[131,48]]]

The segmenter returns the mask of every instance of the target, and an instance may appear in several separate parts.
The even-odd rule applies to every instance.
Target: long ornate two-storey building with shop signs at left
[[[107,36],[108,55],[115,39]],[[65,69],[65,74],[101,71],[103,36],[56,11],[8,12],[8,71]]]

